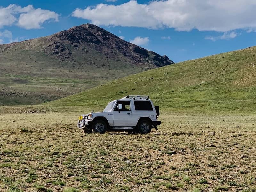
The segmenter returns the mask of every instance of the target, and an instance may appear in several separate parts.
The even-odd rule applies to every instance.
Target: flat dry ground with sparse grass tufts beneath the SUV
[[[165,112],[148,135],[85,136],[79,115],[0,114],[0,191],[256,191],[255,115]]]

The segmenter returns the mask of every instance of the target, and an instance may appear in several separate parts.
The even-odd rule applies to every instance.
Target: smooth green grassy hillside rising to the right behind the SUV
[[[149,70],[48,105],[101,110],[109,100],[129,94],[150,95],[168,110],[255,112],[256,47]]]

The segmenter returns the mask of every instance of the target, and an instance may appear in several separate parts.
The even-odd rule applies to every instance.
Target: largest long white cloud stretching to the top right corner
[[[255,0],[161,0],[138,4],[98,4],[77,8],[72,16],[96,25],[175,28],[179,31],[220,31],[256,28]]]

